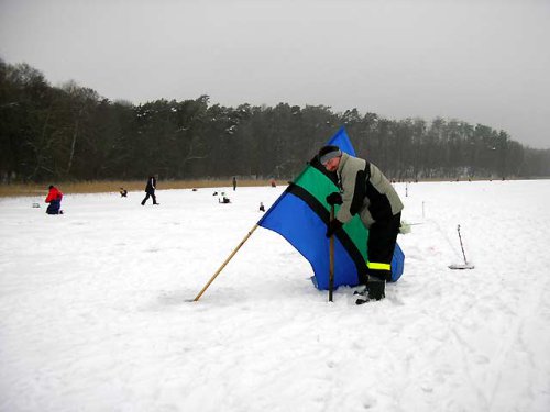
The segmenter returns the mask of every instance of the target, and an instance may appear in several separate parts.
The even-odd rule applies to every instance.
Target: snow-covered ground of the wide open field
[[[361,307],[262,227],[189,302],[283,188],[1,199],[0,410],[549,411],[550,181],[396,188],[405,274]]]

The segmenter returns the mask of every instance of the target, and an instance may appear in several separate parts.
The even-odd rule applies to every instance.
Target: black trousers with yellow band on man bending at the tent
[[[395,243],[399,226],[402,224],[402,213],[392,218],[374,222],[369,227],[369,241],[366,252],[369,256],[366,272],[386,281],[392,279],[391,264],[394,257]]]

